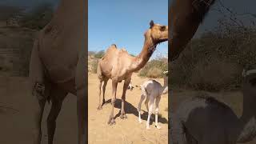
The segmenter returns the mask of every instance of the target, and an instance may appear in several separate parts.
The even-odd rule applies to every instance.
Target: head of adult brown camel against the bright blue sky
[[[144,34],[146,38],[151,38],[154,45],[168,40],[168,26],[162,26],[160,24],[150,21],[150,29],[146,30]]]

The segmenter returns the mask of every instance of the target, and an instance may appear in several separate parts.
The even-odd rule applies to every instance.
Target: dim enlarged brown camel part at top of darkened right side
[[[203,22],[215,0],[173,0],[169,9],[170,57],[174,61]]]

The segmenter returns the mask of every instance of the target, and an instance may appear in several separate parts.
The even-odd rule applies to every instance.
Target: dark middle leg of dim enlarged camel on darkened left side
[[[63,92],[61,90],[54,90],[50,95],[52,105],[50,108],[50,114],[48,115],[48,118],[47,118],[48,144],[54,143],[56,119],[58,118],[58,114],[62,109],[62,102],[66,97],[66,94],[67,94],[66,92]]]

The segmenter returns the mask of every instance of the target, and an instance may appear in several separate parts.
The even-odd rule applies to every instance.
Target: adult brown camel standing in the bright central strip
[[[112,79],[112,110],[110,113],[110,119],[108,124],[114,124],[114,102],[116,100],[116,92],[118,82],[124,80],[123,90],[122,90],[122,108],[120,118],[126,118],[124,104],[126,100],[126,90],[130,83],[130,78],[134,71],[142,69],[149,61],[151,55],[154,53],[156,46],[168,40],[168,26],[162,26],[159,24],[154,24],[150,21],[150,29],[146,30],[144,34],[145,41],[142,48],[142,52],[138,56],[133,57],[124,49],[118,50],[118,48],[113,44],[107,50],[106,54],[98,62],[98,80],[99,80],[99,105],[98,110],[102,109],[101,102],[101,88],[103,90],[103,103],[105,102],[105,90],[106,83],[111,78]],[[102,87],[102,82],[104,85]]]

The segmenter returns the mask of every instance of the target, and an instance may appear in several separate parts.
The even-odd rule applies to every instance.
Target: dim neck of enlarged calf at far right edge
[[[248,90],[243,90],[243,111],[239,119],[239,136],[237,142],[249,142],[256,137],[255,118],[255,95],[249,94]]]

